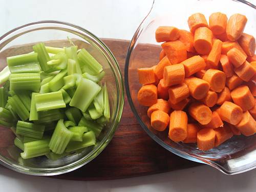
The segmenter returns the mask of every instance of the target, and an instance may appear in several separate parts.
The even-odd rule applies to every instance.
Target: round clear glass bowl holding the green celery
[[[6,57],[29,53],[36,42],[46,46],[67,47],[69,37],[78,49],[86,48],[103,66],[108,82],[111,118],[99,135],[94,147],[81,153],[51,161],[45,156],[22,160],[20,151],[13,145],[14,135],[7,127],[0,127],[0,163],[19,173],[50,176],[71,172],[93,160],[111,141],[121,118],[124,104],[123,80],[118,63],[105,44],[91,32],[63,22],[42,21],[27,24],[11,30],[0,37],[0,70],[6,65]],[[110,91],[111,90],[111,91]]]

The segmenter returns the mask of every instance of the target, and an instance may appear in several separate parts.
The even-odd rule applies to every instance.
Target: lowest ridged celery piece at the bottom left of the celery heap
[[[49,148],[50,139],[37,140],[24,143],[24,152],[20,154],[23,159],[29,159],[46,155],[50,152]]]

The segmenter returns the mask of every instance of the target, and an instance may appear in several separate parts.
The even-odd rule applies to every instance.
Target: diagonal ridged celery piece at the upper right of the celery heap
[[[97,75],[103,70],[100,63],[87,50],[82,49],[77,57],[82,66],[83,73],[87,72],[91,75]]]

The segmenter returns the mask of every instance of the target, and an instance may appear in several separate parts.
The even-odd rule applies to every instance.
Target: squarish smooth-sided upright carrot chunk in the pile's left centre
[[[184,81],[185,70],[182,64],[166,66],[163,70],[163,84],[165,87],[174,86]]]

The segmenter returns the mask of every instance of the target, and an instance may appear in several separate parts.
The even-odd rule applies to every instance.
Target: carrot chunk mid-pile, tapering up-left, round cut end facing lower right
[[[185,78],[185,83],[187,84],[190,95],[195,99],[203,99],[210,89],[210,84],[207,81],[197,77]]]

